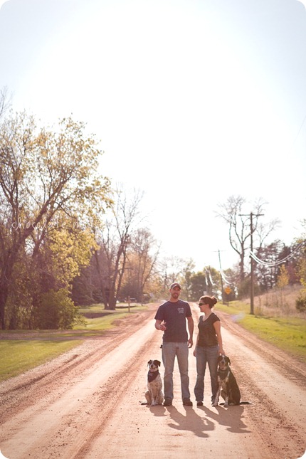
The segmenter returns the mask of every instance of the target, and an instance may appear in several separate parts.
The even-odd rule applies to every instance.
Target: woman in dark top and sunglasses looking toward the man
[[[218,316],[212,312],[216,302],[216,297],[209,296],[201,297],[199,300],[199,308],[201,312],[204,312],[204,315],[199,317],[199,334],[196,340],[196,349],[194,350],[197,373],[194,395],[198,406],[203,406],[206,364],[209,364],[211,401],[213,401],[218,391],[218,356],[219,354],[225,355],[221,337],[221,322]]]

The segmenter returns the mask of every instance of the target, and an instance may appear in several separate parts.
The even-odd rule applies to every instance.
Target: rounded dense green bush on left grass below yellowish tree
[[[78,307],[69,297],[68,290],[43,293],[39,310],[41,329],[72,329],[78,319]]]

